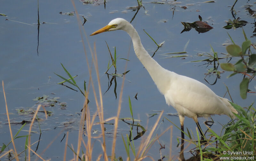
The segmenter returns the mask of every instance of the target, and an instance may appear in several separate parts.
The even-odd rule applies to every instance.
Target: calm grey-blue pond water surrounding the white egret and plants
[[[154,3],[153,3],[154,2]],[[157,3],[156,3],[157,2]],[[163,4],[160,4],[161,2]],[[226,46],[224,43],[231,43],[227,32],[230,34],[236,44],[241,45],[244,41],[242,28],[236,30],[226,30],[222,28],[227,25],[225,21],[228,19],[234,19],[232,17],[230,8],[234,4],[234,0],[220,1],[216,0],[215,3],[203,3],[200,1],[143,1],[143,6],[140,8],[135,18],[132,21],[132,25],[138,31],[142,44],[150,55],[156,51],[157,46],[148,37],[145,31],[156,40],[157,43],[163,41],[164,45],[159,48],[153,57],[164,68],[176,72],[181,75],[185,75],[203,82],[209,88],[211,88],[217,95],[224,96],[226,93],[226,84],[229,88],[232,99],[235,103],[242,107],[247,107],[253,101],[255,101],[254,94],[248,94],[246,100],[241,99],[239,94],[239,83],[243,79],[242,75],[235,75],[227,79],[230,72],[221,74],[221,78],[218,79],[216,84],[212,84],[216,75],[206,76],[208,84],[204,78],[208,69],[213,67],[204,65],[206,62],[191,63],[190,61],[204,60],[208,57],[198,56],[198,54],[213,54],[211,46],[215,52],[218,52],[219,56],[224,56],[221,53],[226,52]],[[252,5],[252,10],[255,10],[255,3],[249,1]],[[132,10],[129,7],[136,6],[138,3],[133,1],[117,1],[110,0],[106,3],[106,9],[104,9],[103,1],[93,1],[91,4],[83,5],[81,1],[75,0],[76,9],[80,18],[83,20],[84,16],[87,21],[84,24],[84,29],[87,36],[92,32],[100,29],[108,24],[108,22],[114,18],[122,17],[128,21],[132,20],[136,9]],[[248,11],[245,10],[248,3],[238,1],[235,5],[237,12],[236,18],[240,17],[241,20],[249,22],[244,26],[244,31],[247,37],[251,37],[254,31],[254,18],[252,18]],[[184,9],[182,6],[186,6]],[[67,1],[39,1],[39,16],[40,16],[40,28],[39,37],[37,29],[37,1],[1,1],[0,12],[7,15],[7,17],[0,16],[0,80],[4,81],[4,89],[7,98],[7,105],[12,122],[12,132],[15,135],[20,129],[22,120],[30,121],[33,114],[29,109],[36,109],[35,104],[38,101],[33,101],[36,97],[42,97],[48,95],[49,97],[59,97],[58,103],[55,103],[55,107],[46,107],[47,110],[52,111],[52,116],[44,120],[43,113],[38,116],[42,121],[40,127],[42,130],[41,141],[39,143],[37,153],[44,159],[63,160],[64,146],[66,138],[61,142],[64,134],[69,131],[68,145],[77,145],[78,127],[80,120],[80,110],[84,104],[84,96],[78,91],[73,91],[64,86],[56,83],[62,80],[56,74],[60,74],[68,78],[65,74],[64,67],[71,73],[71,75],[78,75],[75,80],[77,84],[83,88],[84,80],[89,82],[89,72],[86,65],[86,59],[84,49],[82,45],[82,39],[77,23],[76,16],[66,15],[64,13],[75,11],[72,3]],[[174,12],[173,12],[174,11]],[[60,14],[62,12],[62,14]],[[206,33],[196,32],[192,29],[189,32],[180,32],[184,29],[184,26],[180,22],[198,21],[198,15],[203,18],[203,21],[207,21],[209,25],[213,27],[212,30]],[[6,20],[6,18],[8,20]],[[43,23],[44,22],[44,23]],[[84,36],[84,35],[83,35]],[[39,43],[37,41],[39,40]],[[85,39],[85,37],[84,37]],[[250,38],[252,42],[255,42],[255,37]],[[117,53],[117,73],[122,74],[125,72],[126,60],[129,59],[127,70],[130,70],[126,74],[123,90],[123,102],[120,118],[131,117],[129,110],[128,96],[131,98],[133,114],[136,119],[140,119],[140,125],[147,129],[151,129],[154,125],[157,115],[148,119],[148,114],[158,113],[152,110],[164,110],[164,115],[176,125],[180,126],[179,118],[176,116],[168,116],[168,113],[176,113],[175,109],[168,107],[165,103],[164,96],[159,93],[154,82],[150,78],[148,72],[143,68],[140,61],[136,58],[133,47],[131,46],[131,39],[127,33],[123,31],[107,32],[93,37],[88,37],[89,43],[93,46],[96,45],[96,51],[98,56],[99,74],[102,94],[108,89],[108,77],[105,74],[108,67],[108,61],[110,56],[105,41],[107,41],[111,53],[114,53],[114,46],[116,46]],[[189,41],[186,47],[187,57],[185,59],[178,58],[165,58],[164,53],[183,52],[184,46]],[[226,42],[228,41],[228,42]],[[39,44],[39,45],[38,45]],[[38,53],[37,53],[38,45]],[[211,45],[211,46],[210,46]],[[85,48],[87,51],[90,66],[92,64],[92,57],[89,53],[89,46],[85,42]],[[131,49],[131,50],[130,50]],[[252,50],[255,53],[255,50]],[[127,54],[129,57],[127,58]],[[168,55],[172,56],[172,55]],[[222,59],[221,62],[226,62],[227,59]],[[237,59],[233,58],[231,62],[236,62]],[[111,62],[111,60],[110,60]],[[92,66],[93,67],[93,66]],[[220,71],[223,71],[219,68]],[[114,73],[114,68],[109,69],[109,74]],[[111,79],[112,76],[110,76]],[[97,85],[97,76],[92,68],[92,80]],[[116,109],[118,105],[119,94],[121,90],[122,78],[116,78],[117,87],[117,99],[114,94],[114,81],[108,92],[103,95],[104,106],[104,118],[109,118],[116,115]],[[250,83],[250,89],[254,89],[255,82]],[[68,84],[66,84],[68,85]],[[73,88],[73,87],[72,87]],[[5,110],[4,94],[2,90],[2,84],[0,93],[0,143],[8,144],[11,140],[10,132],[8,128],[8,121]],[[88,87],[87,87],[88,89]],[[96,91],[98,88],[96,87]],[[133,98],[138,93],[136,100]],[[99,95],[97,95],[99,97]],[[226,98],[229,99],[228,95]],[[57,99],[57,98],[56,98]],[[94,95],[92,87],[90,87],[90,94],[88,99],[90,100],[89,108],[91,113],[96,112],[96,103],[94,101]],[[60,102],[66,102],[66,107],[61,106]],[[43,102],[45,103],[45,102]],[[18,111],[25,110],[26,114],[21,114]],[[40,109],[42,110],[42,109]],[[227,123],[230,119],[225,115],[215,115],[212,117],[215,121],[212,129],[220,134],[221,124]],[[163,118],[161,118],[162,120]],[[98,120],[96,120],[98,121]],[[200,118],[199,122],[205,130],[203,125],[204,118]],[[110,121],[114,123],[114,121]],[[161,134],[166,128],[172,125],[170,122],[164,119],[164,122],[160,122],[154,135]],[[196,132],[196,124],[191,118],[185,118],[185,128],[191,129],[193,133]],[[111,154],[113,125],[105,125],[107,135],[107,153]],[[27,124],[20,132],[19,136],[28,134],[29,124]],[[125,136],[129,135],[130,126],[124,122],[119,122],[117,143],[116,143],[116,157],[122,156],[126,158],[126,152],[122,141],[121,134]],[[136,129],[136,128],[134,128]],[[31,136],[31,143],[36,142],[39,139],[39,127],[37,122],[34,123],[34,133]],[[94,126],[93,136],[100,134],[100,126]],[[98,131],[98,132],[97,132]],[[93,131],[92,131],[93,132]],[[134,135],[135,135],[134,130]],[[148,135],[148,132],[145,133]],[[173,127],[172,134],[172,155],[178,156],[180,148],[177,148],[177,137],[180,137],[180,131]],[[86,136],[83,137],[86,139]],[[25,137],[15,140],[15,145],[18,153],[24,150]],[[134,141],[135,144],[140,144],[141,138]],[[161,144],[166,144],[165,149],[161,152],[163,155],[169,155],[170,147],[170,132],[166,132],[160,139]],[[51,143],[51,146],[46,147]],[[37,145],[37,143],[36,143]],[[33,145],[32,149],[36,150],[36,145]],[[12,145],[9,147],[12,148]],[[148,155],[152,156],[155,160],[160,159],[159,144],[155,143],[149,150]],[[193,148],[193,147],[192,147]],[[45,151],[44,151],[45,150]],[[188,149],[189,150],[189,149]],[[185,158],[191,156],[185,152]],[[93,154],[96,158],[102,154],[100,142],[95,139]],[[132,156],[132,155],[131,155]],[[23,160],[25,154],[20,155],[20,159]],[[33,158],[36,158],[35,154],[32,154]],[[73,152],[68,149],[67,159],[72,159]],[[7,156],[5,157],[8,158]],[[11,157],[12,158],[12,157]],[[3,159],[4,160],[4,159]]]

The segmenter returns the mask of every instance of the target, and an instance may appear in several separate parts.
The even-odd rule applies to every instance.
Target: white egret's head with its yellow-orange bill
[[[123,18],[116,18],[110,21],[107,26],[93,32],[90,36],[97,35],[101,32],[106,32],[106,31],[123,30],[126,24],[130,24],[130,23]]]

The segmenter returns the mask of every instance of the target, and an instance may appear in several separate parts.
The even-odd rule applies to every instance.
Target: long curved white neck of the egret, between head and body
[[[168,84],[167,81],[170,81],[169,79],[164,78],[164,76],[166,75],[166,72],[169,71],[161,67],[153,58],[151,58],[151,56],[142,46],[140,36],[138,32],[134,29],[132,24],[127,25],[127,28],[124,28],[124,31],[126,31],[132,38],[132,43],[136,56],[143,64],[143,66],[147,69],[159,91],[164,94],[166,91],[166,86],[164,87],[164,84],[166,85],[166,83]]]

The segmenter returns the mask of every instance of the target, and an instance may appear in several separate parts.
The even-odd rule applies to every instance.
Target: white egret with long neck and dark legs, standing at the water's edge
[[[198,117],[210,117],[210,115],[228,115],[234,118],[237,111],[228,102],[228,99],[216,95],[205,84],[195,79],[176,74],[161,67],[145,50],[140,41],[140,36],[135,28],[123,18],[116,18],[100,30],[90,36],[101,32],[124,30],[132,38],[136,56],[147,69],[155,82],[158,90],[164,95],[166,103],[175,108],[179,114],[181,130],[184,131],[184,117],[193,118],[199,131],[202,130],[198,123]],[[182,138],[184,133],[181,132]]]

